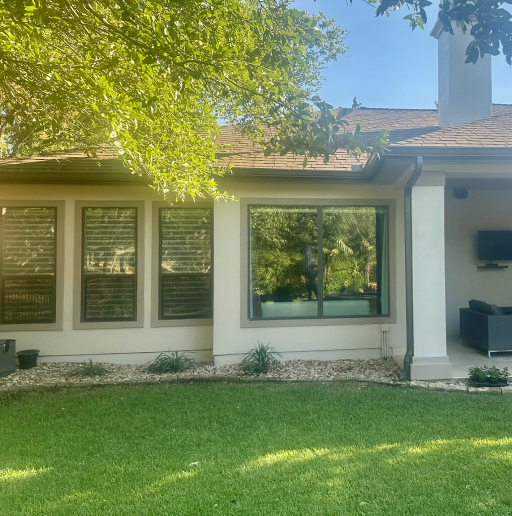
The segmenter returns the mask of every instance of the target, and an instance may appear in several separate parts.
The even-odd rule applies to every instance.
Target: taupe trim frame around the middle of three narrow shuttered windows
[[[84,208],[136,208],[136,293],[135,320],[84,321],[84,282],[83,282],[83,209]],[[73,329],[100,328],[143,328],[144,326],[144,201],[75,201],[75,260],[73,292]]]

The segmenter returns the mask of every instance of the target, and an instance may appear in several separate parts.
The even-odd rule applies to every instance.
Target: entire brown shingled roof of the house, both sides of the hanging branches
[[[398,154],[401,149],[439,148],[449,151],[478,148],[509,148],[512,153],[512,104],[494,104],[492,116],[458,125],[440,128],[437,109],[382,109],[359,108],[352,111],[346,120],[349,129],[360,124],[363,138],[375,138],[378,131],[389,131],[390,150],[387,155]],[[265,157],[263,149],[253,146],[236,127],[224,126],[215,138],[219,147],[217,165],[232,165],[239,170],[283,170],[283,171],[337,171],[349,172],[353,165],[364,165],[366,156],[360,160],[338,151],[323,163],[322,158],[310,159],[306,170],[302,168],[302,156],[271,154]],[[91,164],[101,167],[91,168]],[[126,174],[116,149],[99,146],[97,156],[87,156],[83,150],[67,150],[0,160],[0,175],[3,180],[15,181],[20,171],[27,181],[34,180],[41,173],[45,176],[73,176],[80,181],[118,181],[147,183],[148,179]],[[82,179],[81,176],[83,176]]]

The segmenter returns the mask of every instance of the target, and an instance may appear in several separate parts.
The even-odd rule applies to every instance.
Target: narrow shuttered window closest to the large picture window
[[[159,319],[212,317],[212,209],[159,208]]]

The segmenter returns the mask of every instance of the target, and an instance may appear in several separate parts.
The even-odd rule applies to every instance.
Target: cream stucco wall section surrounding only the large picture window
[[[291,183],[234,183],[226,188],[237,199],[283,198],[303,199],[314,204],[315,199],[394,199],[396,323],[389,325],[389,346],[405,347],[405,284],[404,284],[404,220],[403,191],[382,185],[293,185]],[[312,320],[294,326],[293,321],[282,327],[241,327],[241,285],[248,279],[242,275],[241,227],[247,226],[246,214],[240,203],[218,203],[214,217],[214,356],[216,365],[236,363],[242,354],[257,343],[270,343],[284,359],[378,358],[381,355],[381,327],[365,319],[364,324],[322,324]],[[246,317],[246,315],[245,315]],[[303,321],[302,321],[303,322]],[[320,324],[319,324],[320,323]]]

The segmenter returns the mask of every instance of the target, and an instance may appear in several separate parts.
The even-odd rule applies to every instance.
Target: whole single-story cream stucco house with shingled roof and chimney
[[[236,202],[170,206],[108,152],[3,162],[0,338],[43,361],[179,350],[216,365],[260,341],[284,359],[405,356],[412,379],[451,378],[459,308],[512,305],[512,272],[477,269],[476,240],[512,230],[512,105],[491,105],[489,56],[465,65],[464,37],[435,35],[439,110],[347,117],[389,130],[385,155],[303,169],[223,128]]]

